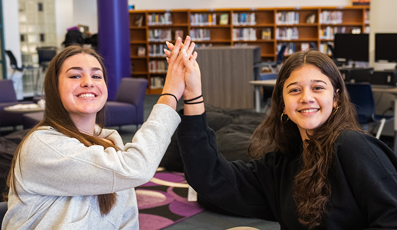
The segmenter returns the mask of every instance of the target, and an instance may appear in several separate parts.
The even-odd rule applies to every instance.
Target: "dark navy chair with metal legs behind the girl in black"
[[[375,101],[371,84],[368,82],[350,83],[345,82],[350,100],[356,105],[358,121],[368,131],[368,124],[380,123],[376,137],[379,139],[386,122],[393,120],[393,116],[383,116],[375,114]]]

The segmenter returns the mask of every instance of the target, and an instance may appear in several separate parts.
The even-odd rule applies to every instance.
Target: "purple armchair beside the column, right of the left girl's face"
[[[121,78],[114,101],[107,101],[106,127],[143,123],[143,101],[148,86],[144,78]]]

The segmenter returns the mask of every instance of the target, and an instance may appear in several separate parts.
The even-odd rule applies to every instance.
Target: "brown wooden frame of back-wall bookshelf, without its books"
[[[159,50],[165,48],[165,40],[159,39],[156,41],[150,40],[153,34],[168,34],[171,31],[171,36],[168,36],[168,41],[175,43],[175,32],[183,31],[183,37],[191,35],[192,31],[195,31],[198,35],[209,33],[210,37],[202,40],[193,41],[198,46],[235,46],[235,45],[256,45],[261,46],[261,57],[262,60],[276,60],[277,47],[283,43],[293,43],[296,50],[301,49],[303,43],[314,43],[317,48],[320,49],[323,44],[333,41],[333,36],[329,31],[343,30],[345,33],[351,33],[352,30],[359,29],[361,33],[369,33],[369,6],[346,6],[346,7],[302,7],[302,8],[239,8],[239,9],[176,9],[176,10],[131,10],[130,11],[130,49],[131,49],[131,61],[133,65],[132,77],[143,77],[148,79],[148,94],[160,94],[162,89],[161,86],[153,86],[152,80],[157,77],[165,78],[166,72],[151,71],[153,67],[151,63],[153,61],[161,62],[165,60],[165,56],[149,55],[150,49]],[[324,14],[343,14],[342,20],[337,22],[336,20],[330,20],[327,22],[320,23],[320,16]],[[234,15],[240,17],[241,15],[255,14],[256,23],[250,24],[238,24],[235,25]],[[278,15],[299,13],[299,17],[296,16],[294,24],[279,24]],[[161,15],[166,14],[165,18],[170,17],[172,23],[169,24],[155,24],[149,25],[149,17],[158,18]],[[201,24],[194,24],[191,19],[199,16],[204,19]],[[201,16],[200,16],[201,15]],[[208,15],[211,15],[211,19]],[[222,16],[227,15],[227,24],[221,25],[220,19]],[[313,23],[307,23],[306,20],[309,15],[315,15]],[[213,25],[213,18],[216,18],[216,24]],[[136,23],[137,20],[141,19],[141,25]],[[160,20],[160,19],[159,19]],[[293,30],[298,32],[296,39],[276,39],[276,32],[278,30]],[[270,39],[262,39],[262,30],[270,31]],[[321,36],[320,32],[328,32],[329,36]],[[250,39],[236,40],[236,33],[249,32]],[[168,34],[169,35],[169,34]],[[192,36],[192,35],[191,35]],[[193,37],[193,36],[192,36]],[[245,38],[245,37],[242,37]],[[254,39],[254,40],[253,40]],[[162,46],[162,47],[161,47]],[[146,52],[145,55],[138,56],[139,47],[144,47]],[[162,52],[162,51],[160,51]],[[161,66],[161,65],[160,65]],[[166,67],[165,67],[166,68]],[[158,81],[156,81],[158,84]]]

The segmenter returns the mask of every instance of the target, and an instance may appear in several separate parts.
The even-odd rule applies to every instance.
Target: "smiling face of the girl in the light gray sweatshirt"
[[[108,89],[99,61],[92,55],[80,53],[68,57],[59,73],[59,96],[72,120],[91,116],[102,109]]]

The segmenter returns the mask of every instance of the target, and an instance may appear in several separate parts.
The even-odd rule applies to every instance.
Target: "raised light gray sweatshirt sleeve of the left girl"
[[[132,142],[120,151],[100,145],[85,147],[54,129],[38,130],[23,145],[16,179],[26,192],[46,196],[131,189],[153,177],[179,122],[171,107],[156,104]]]

